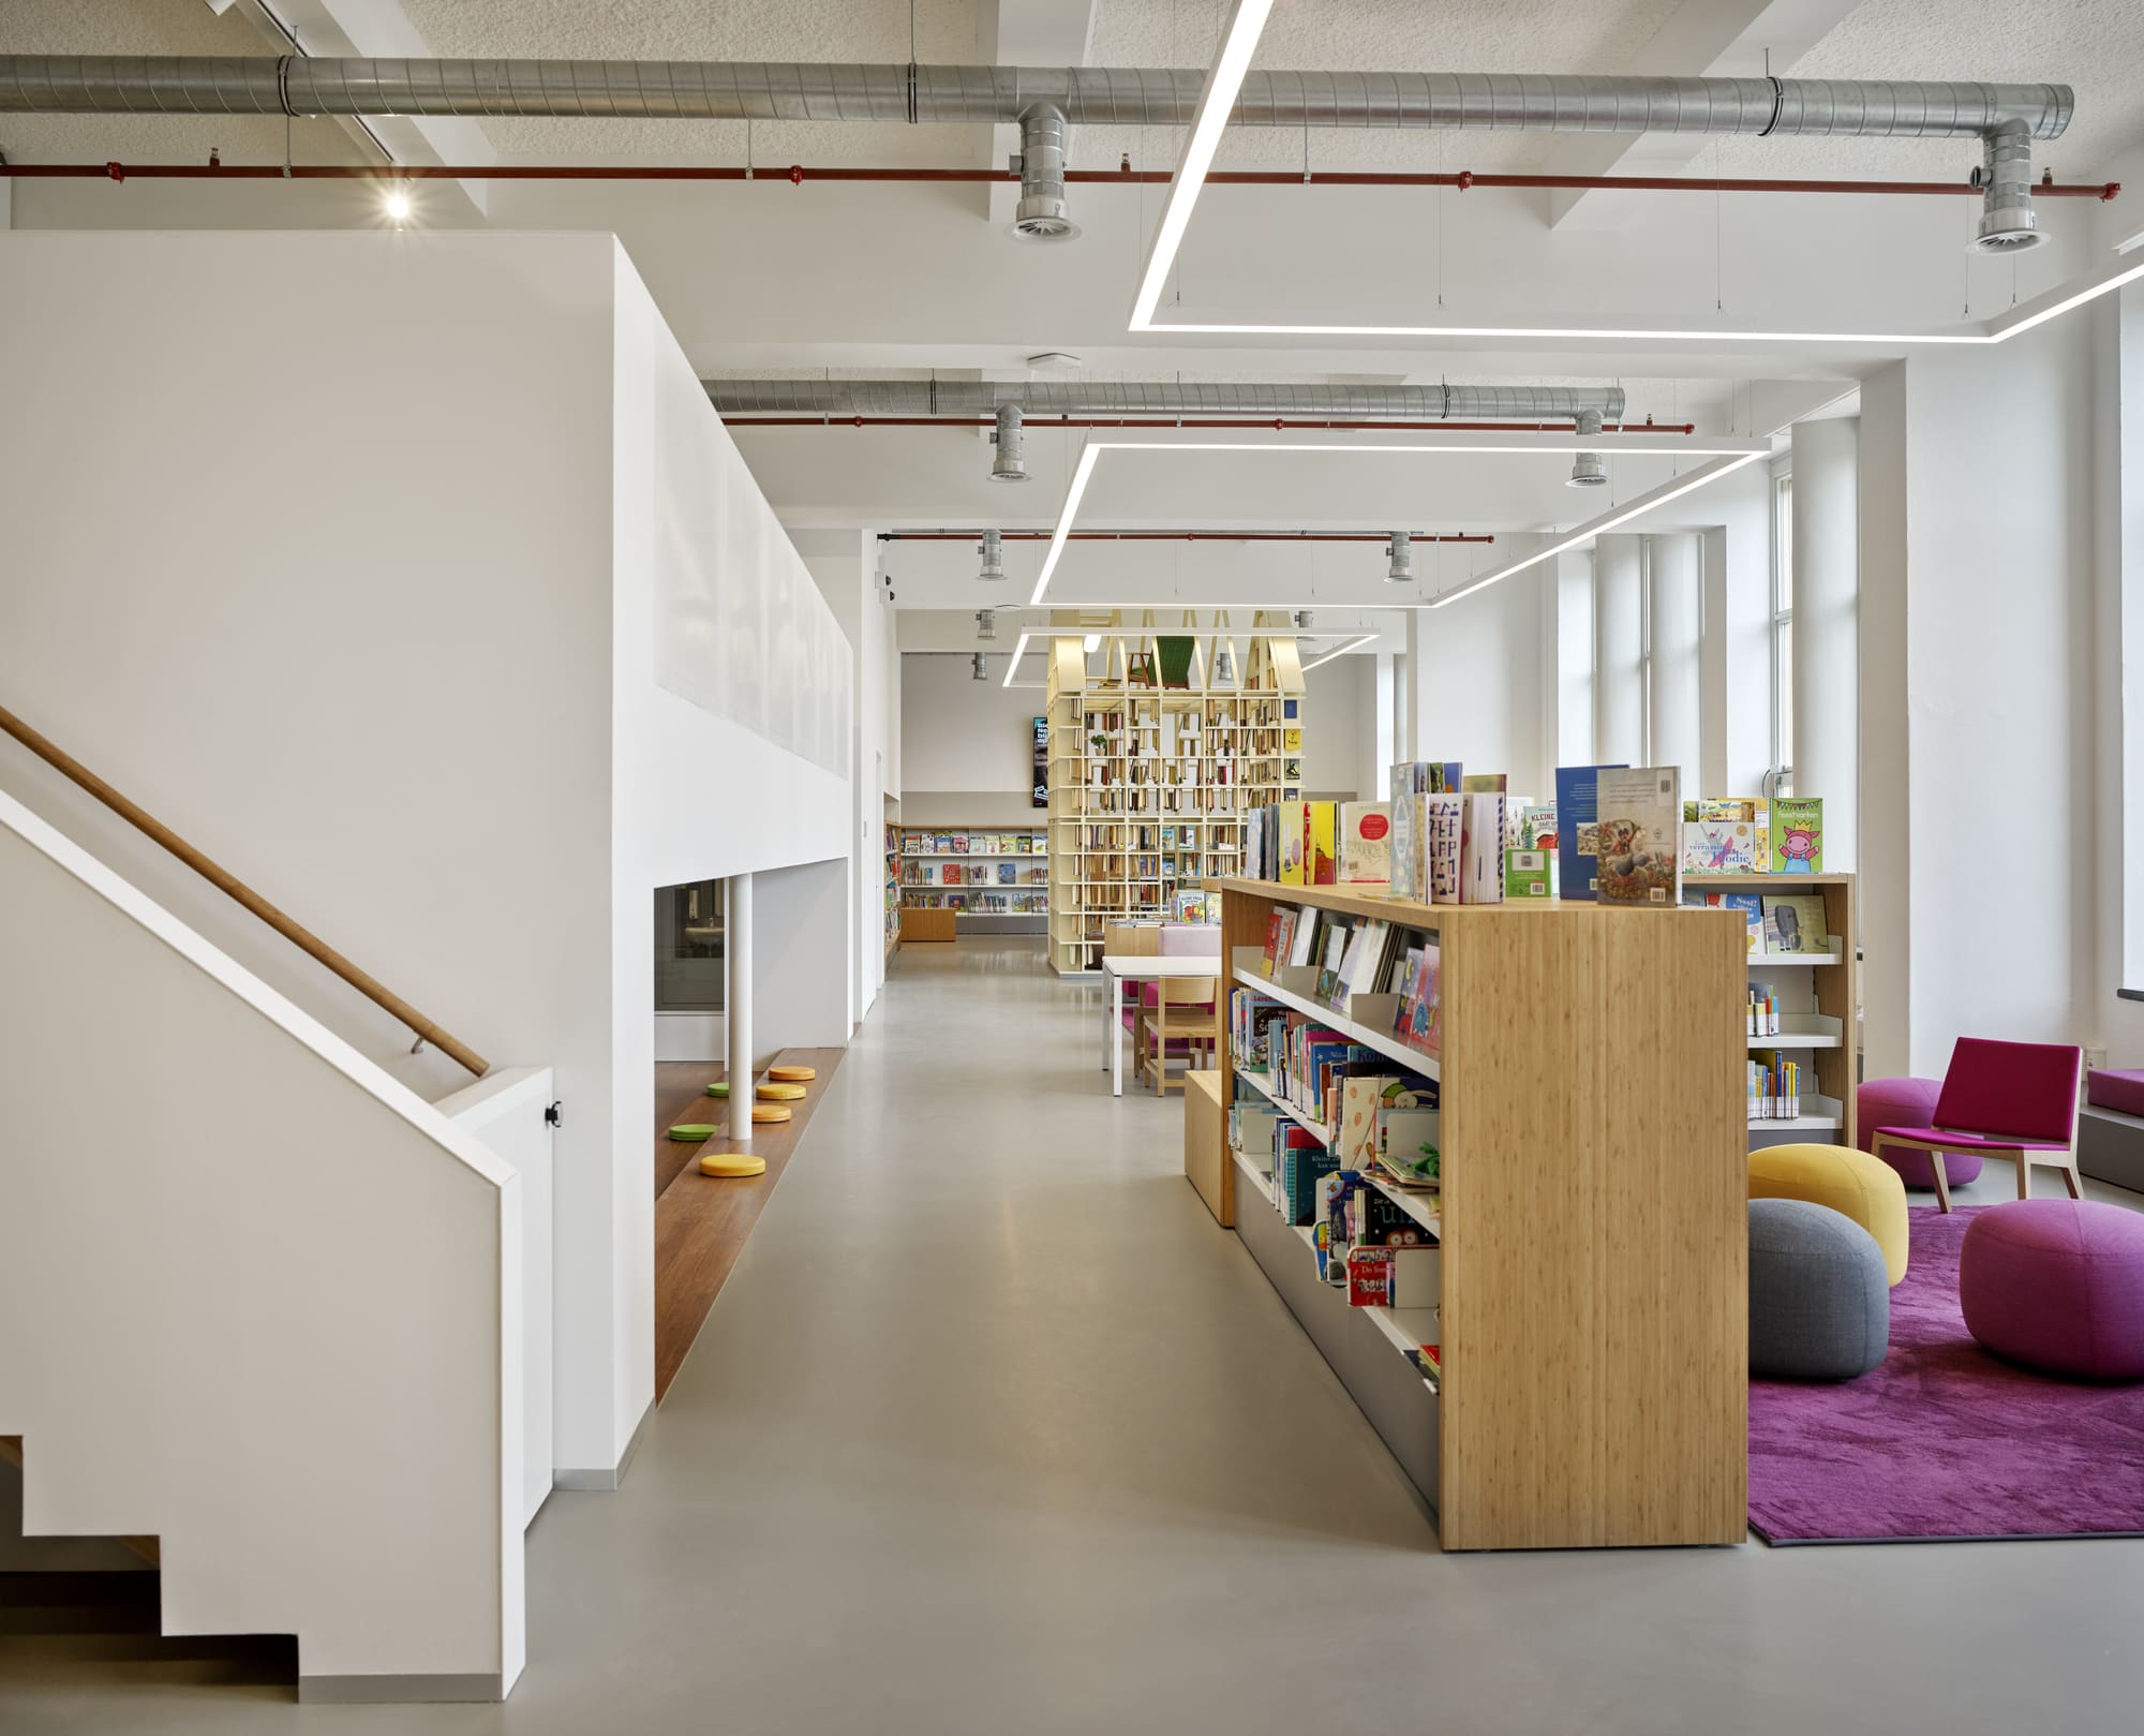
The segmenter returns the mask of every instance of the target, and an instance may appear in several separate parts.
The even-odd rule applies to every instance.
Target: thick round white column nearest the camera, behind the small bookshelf
[[[1795,795],[1825,799],[1825,866],[1852,870],[1861,808],[1861,420],[1795,424]]]

